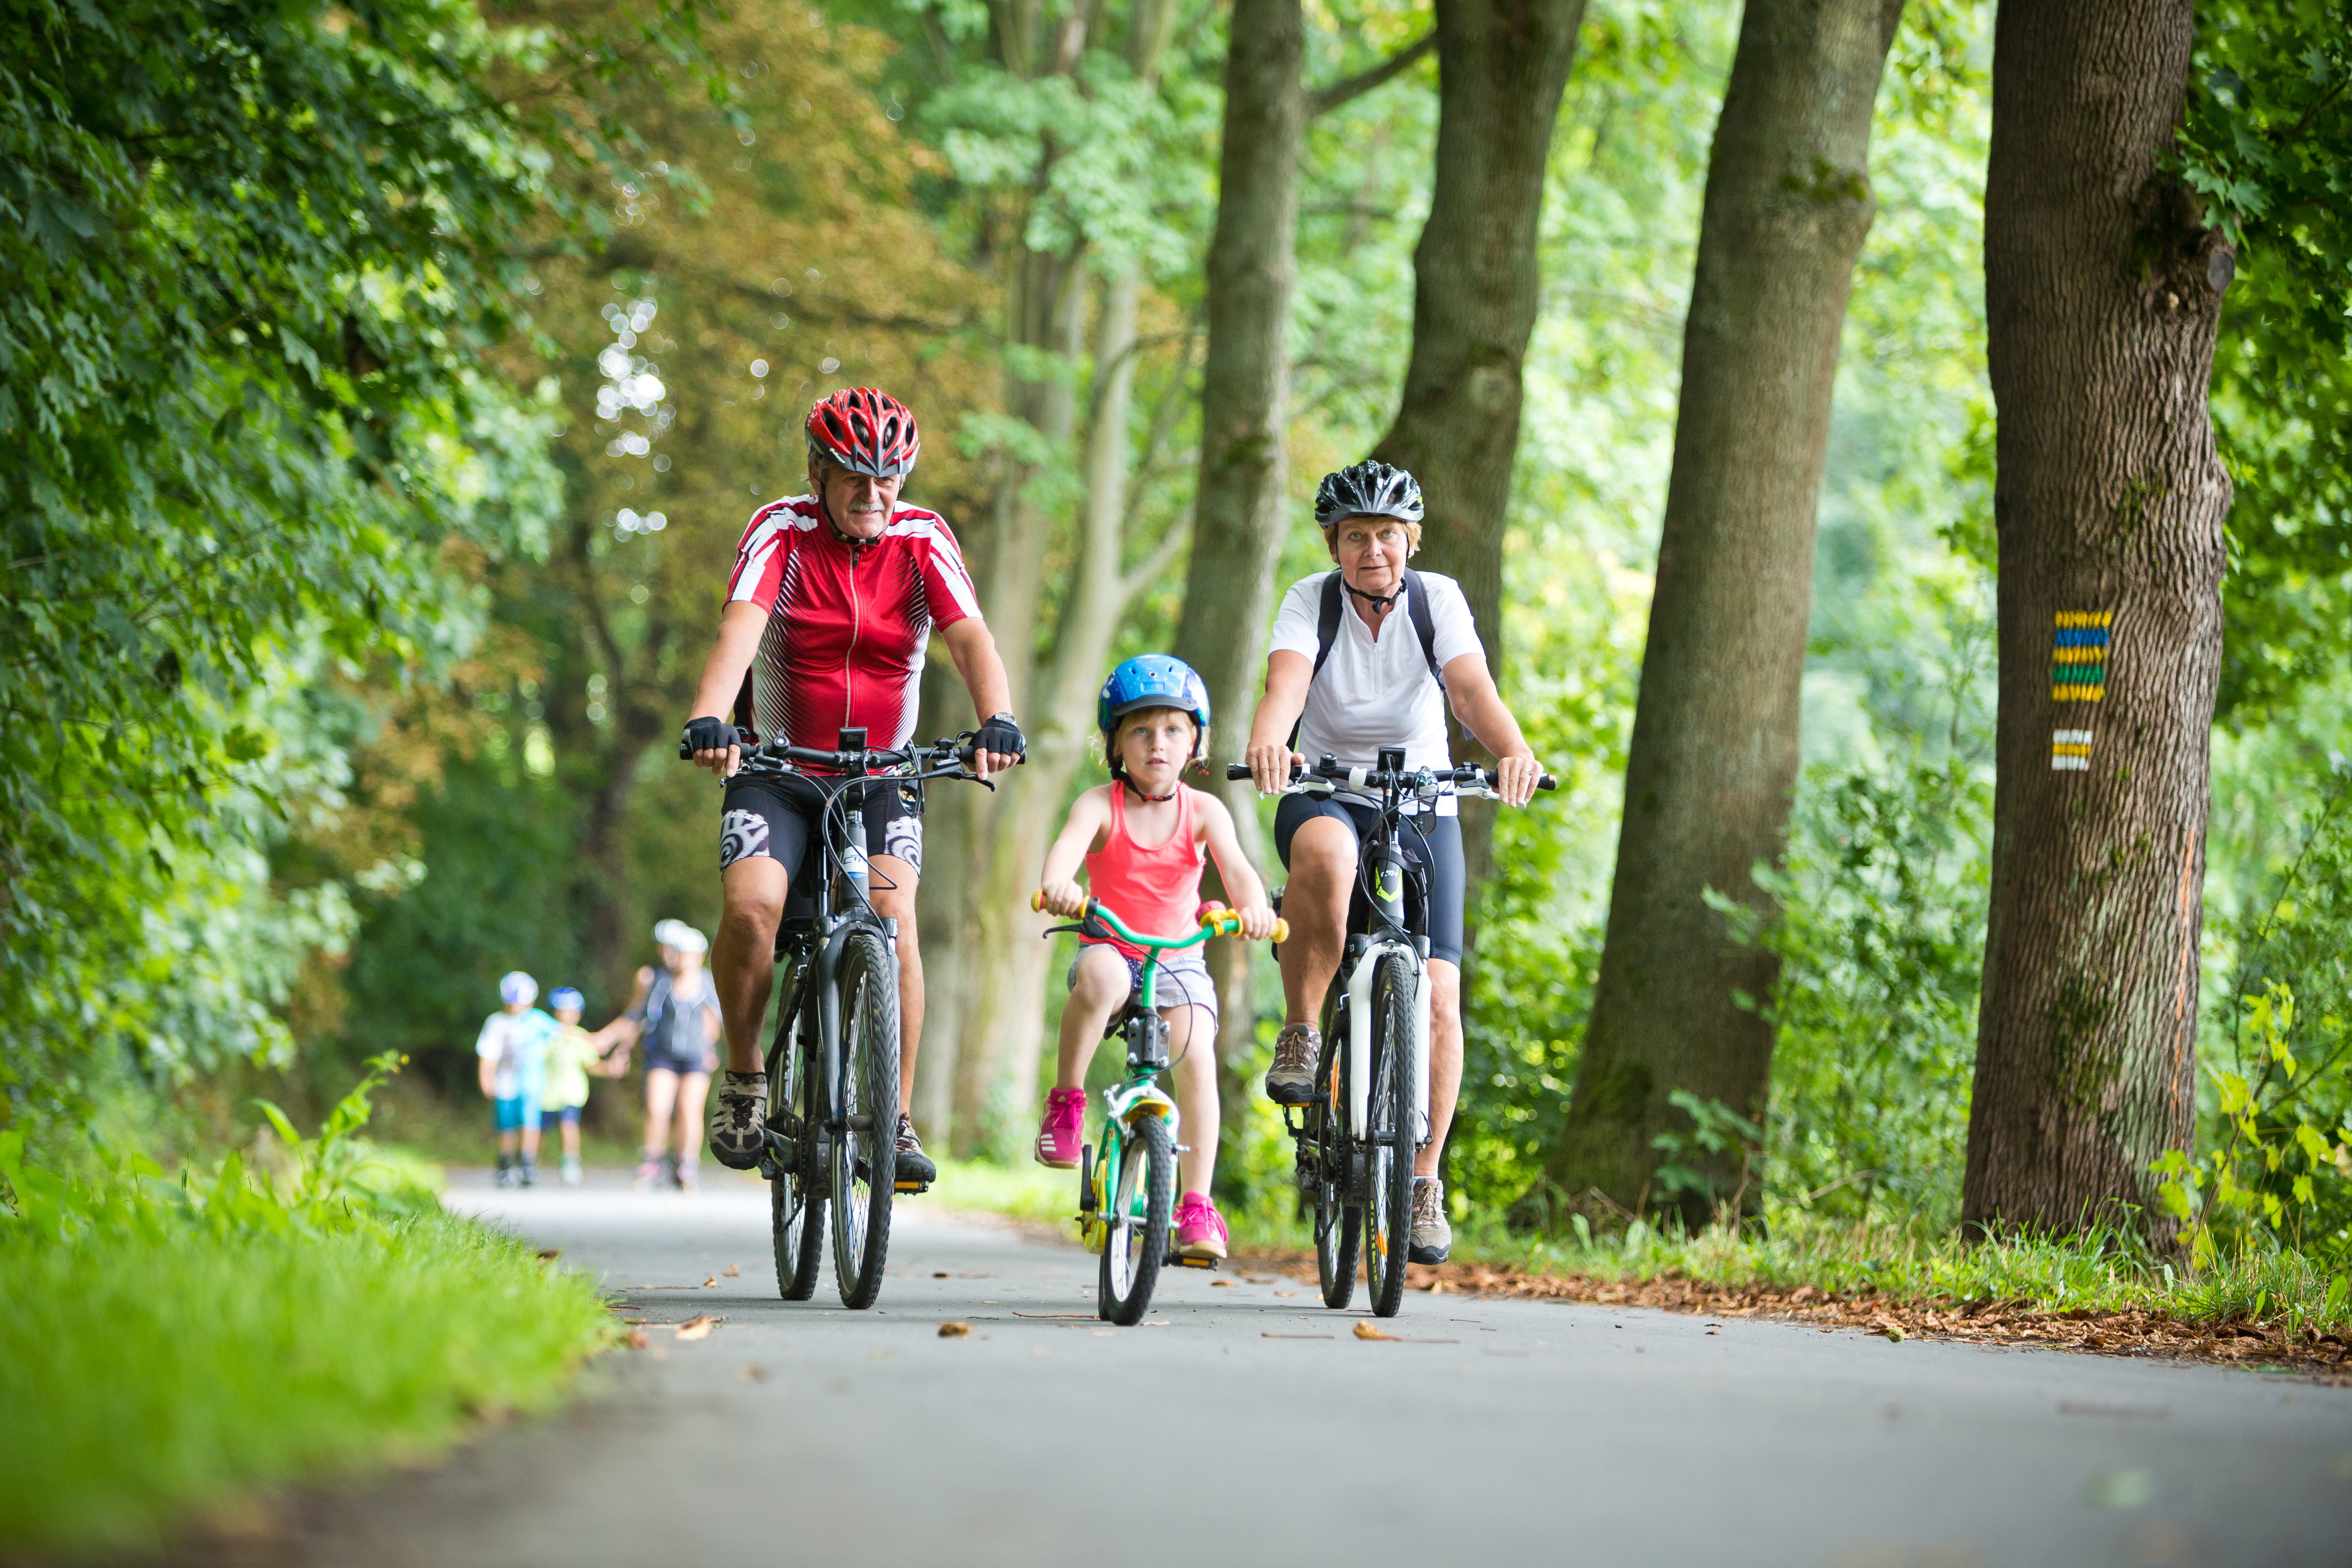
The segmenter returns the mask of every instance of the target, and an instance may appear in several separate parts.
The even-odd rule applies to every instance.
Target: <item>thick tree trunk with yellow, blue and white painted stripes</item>
[[[2230,510],[2206,388],[2234,256],[2159,169],[2187,68],[2190,0],[2004,5],[1994,28],[2002,710],[1962,1199],[1978,1232],[2145,1222],[2150,1164],[2190,1140]]]

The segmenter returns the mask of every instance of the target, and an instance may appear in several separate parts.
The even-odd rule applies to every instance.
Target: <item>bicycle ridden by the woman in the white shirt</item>
[[[1225,778],[1249,778],[1232,764]],[[1378,766],[1324,757],[1294,764],[1284,795],[1350,795],[1378,811],[1357,858],[1359,898],[1322,1006],[1317,1093],[1305,1114],[1282,1110],[1298,1150],[1298,1187],[1315,1199],[1315,1272],[1327,1307],[1355,1298],[1357,1248],[1376,1316],[1404,1305],[1414,1232],[1414,1154],[1430,1145],[1430,922],[1421,867],[1404,853],[1409,813],[1437,809],[1444,788],[1501,799],[1484,769],[1406,769],[1385,745]],[[1555,788],[1550,773],[1538,790]]]

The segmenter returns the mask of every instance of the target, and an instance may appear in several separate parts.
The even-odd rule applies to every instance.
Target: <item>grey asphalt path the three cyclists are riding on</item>
[[[649,1345],[362,1488],[320,1563],[2347,1563],[2352,1389],[1461,1295],[1359,1340],[1312,1281],[1162,1276],[898,1204],[880,1307],[776,1298],[767,1194],[452,1187]],[[736,1267],[736,1274],[727,1269]],[[715,1281],[715,1284],[706,1284]],[[1359,1291],[1362,1298],[1362,1291]],[[663,1324],[715,1314],[691,1342]],[[941,1338],[943,1321],[971,1326]]]

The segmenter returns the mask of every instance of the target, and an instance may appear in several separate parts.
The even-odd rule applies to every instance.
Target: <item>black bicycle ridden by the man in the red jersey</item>
[[[739,769],[804,778],[826,795],[814,875],[793,877],[776,926],[783,999],[767,1048],[760,1175],[769,1182],[783,1300],[816,1293],[830,1206],[842,1305],[873,1307],[889,1255],[891,1197],[920,1192],[898,1180],[898,922],[875,914],[868,898],[866,795],[908,790],[920,802],[931,778],[988,785],[969,766],[969,733],[884,750],[868,748],[863,729],[844,729],[837,750],[769,741]]]

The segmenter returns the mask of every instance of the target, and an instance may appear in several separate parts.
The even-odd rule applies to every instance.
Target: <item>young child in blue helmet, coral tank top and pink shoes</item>
[[[1200,870],[1216,856],[1225,893],[1240,907],[1242,933],[1268,938],[1275,912],[1265,884],[1242,856],[1232,813],[1218,797],[1188,788],[1185,762],[1209,752],[1209,689],[1181,658],[1145,654],[1110,672],[1094,705],[1103,731],[1110,783],[1070,806],[1054,849],[1044,856],[1044,907],[1065,919],[1087,910],[1087,884],[1129,931],[1181,936],[1200,912]],[[1037,1164],[1077,1168],[1087,1131],[1087,1063],[1103,1027],[1127,1006],[1143,976],[1143,952],[1120,940],[1080,938],[1070,964],[1070,1001],[1061,1009],[1061,1056],[1054,1091],[1037,1126]],[[1216,1171],[1216,983],[1200,947],[1160,954],[1160,1016],[1169,1020],[1169,1060],[1185,1152],[1176,1157],[1176,1253],[1225,1255],[1225,1215],[1209,1201]]]

